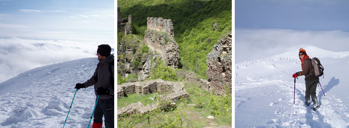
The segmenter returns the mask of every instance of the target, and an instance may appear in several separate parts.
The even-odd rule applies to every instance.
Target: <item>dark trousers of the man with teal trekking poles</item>
[[[98,99],[93,122],[103,123],[105,128],[114,128],[114,97],[110,99]]]

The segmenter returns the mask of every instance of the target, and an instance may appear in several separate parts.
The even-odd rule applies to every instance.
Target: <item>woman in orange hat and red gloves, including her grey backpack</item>
[[[313,58],[310,59],[309,56],[306,54],[305,50],[300,48],[299,53],[298,53],[299,59],[301,65],[302,65],[302,71],[296,72],[295,74],[292,75],[293,78],[295,78],[295,88],[296,88],[296,78],[298,76],[305,76],[305,104],[307,106],[310,105],[310,96],[313,101],[314,107],[312,108],[314,111],[320,108],[318,98],[316,97],[316,86],[319,83],[319,76],[322,76],[323,74],[323,69],[322,65],[320,64],[320,61],[318,58]],[[317,61],[317,63],[315,62]],[[321,67],[322,69],[321,69]],[[322,73],[321,75],[318,75],[319,71],[316,71],[318,69],[315,68],[320,68],[320,72]],[[298,78],[297,78],[298,79]],[[321,87],[322,89],[322,87]],[[322,91],[324,92],[324,91]],[[325,95],[325,93],[324,93]]]

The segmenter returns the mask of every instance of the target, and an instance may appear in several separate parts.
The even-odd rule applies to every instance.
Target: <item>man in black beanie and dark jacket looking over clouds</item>
[[[110,52],[111,47],[108,44],[99,45],[97,49],[99,63],[95,73],[87,82],[77,83],[74,87],[80,89],[95,85],[95,94],[99,95],[99,98],[93,113],[93,128],[102,128],[103,115],[105,127],[114,127],[114,57]]]

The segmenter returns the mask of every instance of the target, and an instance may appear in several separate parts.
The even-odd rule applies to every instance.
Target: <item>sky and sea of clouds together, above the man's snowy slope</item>
[[[0,83],[36,67],[97,57],[100,44],[114,53],[113,0],[0,0]]]

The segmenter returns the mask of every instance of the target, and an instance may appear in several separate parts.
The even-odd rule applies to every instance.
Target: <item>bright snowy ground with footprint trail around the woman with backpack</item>
[[[292,74],[301,70],[299,48],[324,66],[317,87],[320,109],[304,104],[304,76],[296,83]],[[297,46],[268,59],[235,64],[235,127],[349,127],[349,52],[332,52],[314,46]],[[321,56],[320,56],[321,55]],[[294,88],[296,86],[296,88]],[[295,91],[295,104],[294,104]]]

